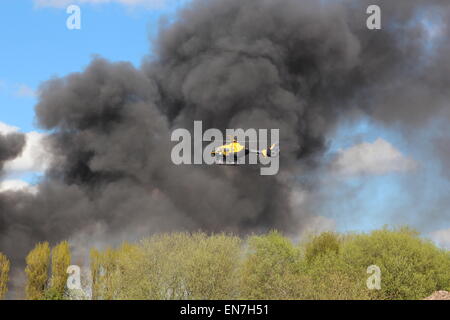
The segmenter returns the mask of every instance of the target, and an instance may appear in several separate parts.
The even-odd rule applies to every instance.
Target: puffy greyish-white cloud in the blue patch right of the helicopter
[[[417,163],[398,151],[386,140],[363,142],[345,150],[339,150],[332,164],[333,171],[340,175],[406,172],[417,168]]]

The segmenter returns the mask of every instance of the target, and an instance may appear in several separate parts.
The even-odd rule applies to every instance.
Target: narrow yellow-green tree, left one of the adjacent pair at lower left
[[[44,299],[50,265],[50,246],[48,242],[38,243],[28,254],[26,262],[26,297],[29,300]]]

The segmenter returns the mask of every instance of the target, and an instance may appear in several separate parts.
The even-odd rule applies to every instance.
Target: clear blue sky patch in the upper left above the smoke
[[[148,39],[156,34],[159,18],[175,11],[118,3],[80,7],[81,30],[69,30],[64,8],[36,7],[32,0],[0,2],[1,121],[35,129],[36,99],[23,88],[36,90],[46,79],[81,71],[93,55],[139,66],[151,52]]]

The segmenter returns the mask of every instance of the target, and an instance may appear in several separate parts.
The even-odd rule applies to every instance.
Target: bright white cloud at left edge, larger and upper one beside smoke
[[[18,132],[19,128],[0,122],[0,133]],[[48,167],[49,153],[44,148],[45,134],[39,132],[25,133],[26,144],[22,154],[5,162],[6,173],[42,172]]]

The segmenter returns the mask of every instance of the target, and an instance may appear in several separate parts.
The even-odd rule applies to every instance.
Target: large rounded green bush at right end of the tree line
[[[450,254],[421,239],[415,231],[378,230],[355,235],[342,246],[342,256],[361,277],[370,265],[381,269],[376,299],[423,299],[450,288]]]

